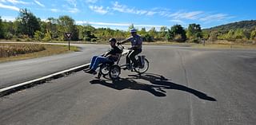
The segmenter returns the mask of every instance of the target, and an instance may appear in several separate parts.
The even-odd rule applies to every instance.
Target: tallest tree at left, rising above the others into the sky
[[[40,30],[39,18],[36,18],[29,10],[22,9],[19,11],[18,21],[22,34],[34,37],[34,32]]]

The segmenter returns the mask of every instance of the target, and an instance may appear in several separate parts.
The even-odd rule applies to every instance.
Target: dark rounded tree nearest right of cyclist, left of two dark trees
[[[175,39],[176,41],[186,41],[186,31],[183,29],[182,25],[174,25],[170,28],[170,33],[173,33],[173,37],[180,35],[180,38]]]

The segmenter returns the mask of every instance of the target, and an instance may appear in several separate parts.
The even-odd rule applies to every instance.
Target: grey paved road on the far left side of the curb
[[[80,52],[0,63],[0,88],[86,64],[92,56],[101,54],[109,48],[109,45],[77,46],[81,48]]]

